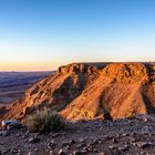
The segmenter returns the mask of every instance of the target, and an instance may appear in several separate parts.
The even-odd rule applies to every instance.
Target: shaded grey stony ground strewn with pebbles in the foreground
[[[59,133],[29,133],[27,128],[0,132],[2,155],[154,155],[155,118],[69,123]]]

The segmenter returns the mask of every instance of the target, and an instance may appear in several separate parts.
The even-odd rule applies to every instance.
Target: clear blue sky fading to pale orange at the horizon
[[[155,0],[0,0],[0,71],[155,61]]]

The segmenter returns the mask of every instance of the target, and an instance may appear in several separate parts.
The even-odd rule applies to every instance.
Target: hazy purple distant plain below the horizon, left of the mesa
[[[52,72],[0,72],[0,104],[13,102],[24,91]]]

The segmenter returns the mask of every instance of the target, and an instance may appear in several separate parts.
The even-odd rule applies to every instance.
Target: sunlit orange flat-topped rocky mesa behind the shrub
[[[51,107],[68,120],[155,113],[155,63],[73,63],[34,84],[4,118]]]

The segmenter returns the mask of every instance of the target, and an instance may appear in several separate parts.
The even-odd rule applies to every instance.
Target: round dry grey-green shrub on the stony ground
[[[34,133],[58,132],[64,127],[65,121],[56,112],[51,110],[37,111],[35,114],[29,116],[28,128]]]

